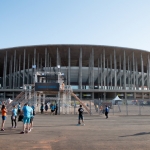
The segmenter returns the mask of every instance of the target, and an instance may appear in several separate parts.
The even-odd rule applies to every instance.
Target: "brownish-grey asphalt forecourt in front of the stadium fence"
[[[150,150],[150,116],[84,115],[85,126],[77,118],[37,114],[33,130],[19,134],[22,122],[12,129],[8,116],[0,150]]]

